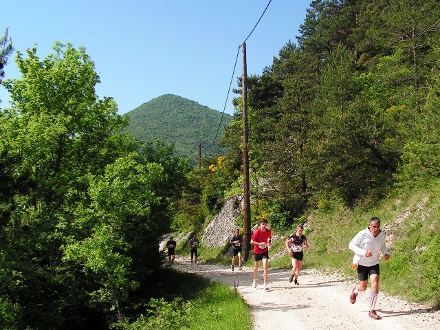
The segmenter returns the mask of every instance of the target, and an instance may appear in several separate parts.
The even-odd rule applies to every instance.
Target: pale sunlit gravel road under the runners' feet
[[[303,270],[300,285],[289,283],[289,272],[269,271],[270,291],[263,290],[263,270],[259,270],[259,283],[252,285],[252,269],[232,272],[218,265],[190,265],[186,258],[173,266],[183,272],[206,276],[212,281],[230,287],[238,286],[239,293],[252,309],[254,330],[264,329],[440,329],[440,311],[430,307],[407,303],[380,292],[377,314],[381,320],[368,317],[370,289],[361,292],[354,305],[349,292],[355,283],[336,275],[325,275],[316,270]]]

